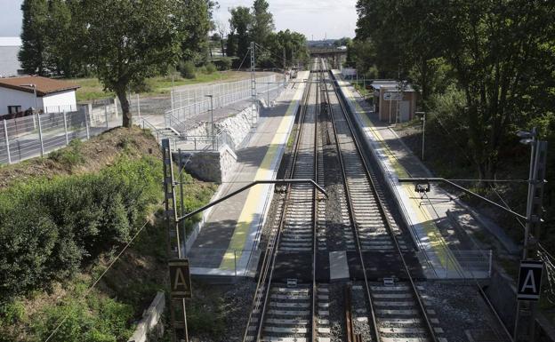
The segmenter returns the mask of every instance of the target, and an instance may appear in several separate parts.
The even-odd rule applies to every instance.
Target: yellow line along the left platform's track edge
[[[273,170],[270,170],[271,163],[276,158],[277,148],[279,145],[286,143],[287,141],[287,139],[285,139],[285,142],[282,142],[284,141],[284,135],[289,134],[288,128],[291,127],[292,121],[294,120],[294,113],[292,112],[294,111],[294,107],[296,107],[296,102],[302,97],[303,89],[303,87],[299,87],[299,89],[294,93],[294,97],[291,100],[291,103],[289,103],[289,107],[287,107],[286,115],[284,115],[283,119],[279,123],[276,134],[268,147],[268,151],[266,151],[266,155],[264,155],[264,158],[262,159],[258,171],[256,171],[254,179],[269,179],[271,177],[273,173]],[[243,210],[237,219],[237,226],[235,227],[235,231],[229,241],[228,250],[221,259],[221,269],[234,269],[236,266],[236,259],[238,260],[241,258],[249,228],[253,223],[256,209],[263,195],[262,189],[263,188],[260,186],[255,186],[251,187],[248,191],[245,205],[243,206]]]

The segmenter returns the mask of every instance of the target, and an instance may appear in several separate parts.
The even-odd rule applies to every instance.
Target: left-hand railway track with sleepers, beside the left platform
[[[302,99],[299,130],[289,178],[321,179],[318,157],[318,74],[310,75]],[[311,105],[311,103],[314,103]],[[325,323],[326,287],[317,287],[316,257],[318,250],[318,194],[312,185],[287,188],[280,219],[273,229],[253,300],[244,341],[311,341],[318,335],[318,322]],[[320,221],[320,225],[322,222]],[[320,226],[321,227],[321,226]],[[276,258],[302,257],[311,263],[310,282],[296,278],[273,279]],[[319,318],[319,320],[318,320]],[[325,331],[325,330],[324,330]]]

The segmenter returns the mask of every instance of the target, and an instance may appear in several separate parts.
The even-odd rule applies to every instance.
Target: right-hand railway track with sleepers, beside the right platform
[[[438,320],[430,317],[419,294],[418,287],[404,258],[409,247],[401,230],[391,216],[384,194],[373,173],[368,168],[358,140],[350,123],[347,108],[339,94],[333,77],[326,82],[326,101],[334,126],[345,186],[345,198],[350,211],[355,245],[362,266],[363,282],[350,287],[351,298],[366,298],[366,307],[360,303],[347,308],[350,311],[349,341],[362,340],[353,321],[367,322],[373,331],[373,340],[383,342],[443,342],[436,335],[442,331],[434,328]],[[370,282],[366,268],[365,252],[392,251],[397,253],[399,268],[405,271],[406,282]],[[357,307],[358,306],[358,307]],[[354,314],[353,314],[354,313]]]

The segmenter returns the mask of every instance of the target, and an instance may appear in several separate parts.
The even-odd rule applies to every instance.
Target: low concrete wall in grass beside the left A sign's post
[[[137,324],[137,329],[133,332],[127,342],[147,342],[156,341],[164,334],[164,324],[158,324],[165,309],[165,294],[157,292],[157,296],[150,304],[147,311],[142,314],[141,321]],[[150,338],[152,337],[152,338]]]

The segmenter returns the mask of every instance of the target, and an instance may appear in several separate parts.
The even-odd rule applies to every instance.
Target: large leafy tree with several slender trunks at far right
[[[501,147],[512,140],[508,131],[526,124],[534,113],[531,102],[553,97],[536,86],[555,71],[555,4],[457,0],[437,16],[446,60],[467,102],[462,124],[473,161],[480,179],[493,179]]]

